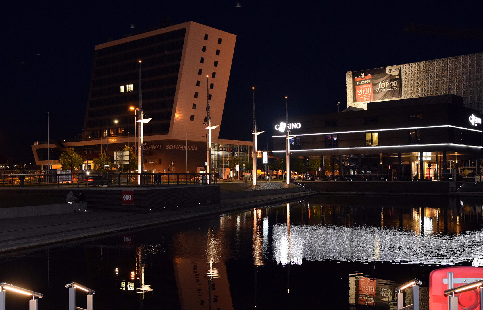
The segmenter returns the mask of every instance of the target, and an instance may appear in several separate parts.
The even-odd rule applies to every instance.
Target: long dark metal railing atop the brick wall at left
[[[19,173],[1,174],[1,187],[165,186],[216,184],[215,173]]]

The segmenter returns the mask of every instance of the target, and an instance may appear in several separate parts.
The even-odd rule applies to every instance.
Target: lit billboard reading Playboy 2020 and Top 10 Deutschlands
[[[365,109],[368,102],[401,98],[400,65],[352,72],[353,106]]]

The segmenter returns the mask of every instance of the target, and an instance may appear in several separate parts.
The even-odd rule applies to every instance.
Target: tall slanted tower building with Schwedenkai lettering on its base
[[[220,125],[235,41],[233,34],[186,22],[96,45],[84,130],[78,141],[50,141],[52,169],[69,147],[89,169],[100,152],[113,160],[114,151],[136,144],[141,74],[144,118],[152,118],[144,125],[143,169],[167,172],[174,163],[175,172],[203,170],[207,97],[212,126]],[[249,162],[252,143],[218,139],[219,130],[212,130],[212,172],[222,176],[228,155]],[[48,164],[46,142],[32,151],[37,165]]]

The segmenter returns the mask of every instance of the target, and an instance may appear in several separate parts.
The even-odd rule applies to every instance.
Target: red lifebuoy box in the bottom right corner
[[[431,271],[429,274],[429,310],[448,310],[448,272],[453,272],[453,287],[483,279],[482,267],[448,267]],[[475,289],[458,296],[458,310],[480,309],[480,289]]]

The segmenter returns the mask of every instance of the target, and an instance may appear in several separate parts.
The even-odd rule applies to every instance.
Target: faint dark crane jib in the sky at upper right
[[[430,34],[449,38],[483,40],[483,30],[462,29],[452,27],[440,27],[423,24],[409,24],[404,27],[404,32]]]

